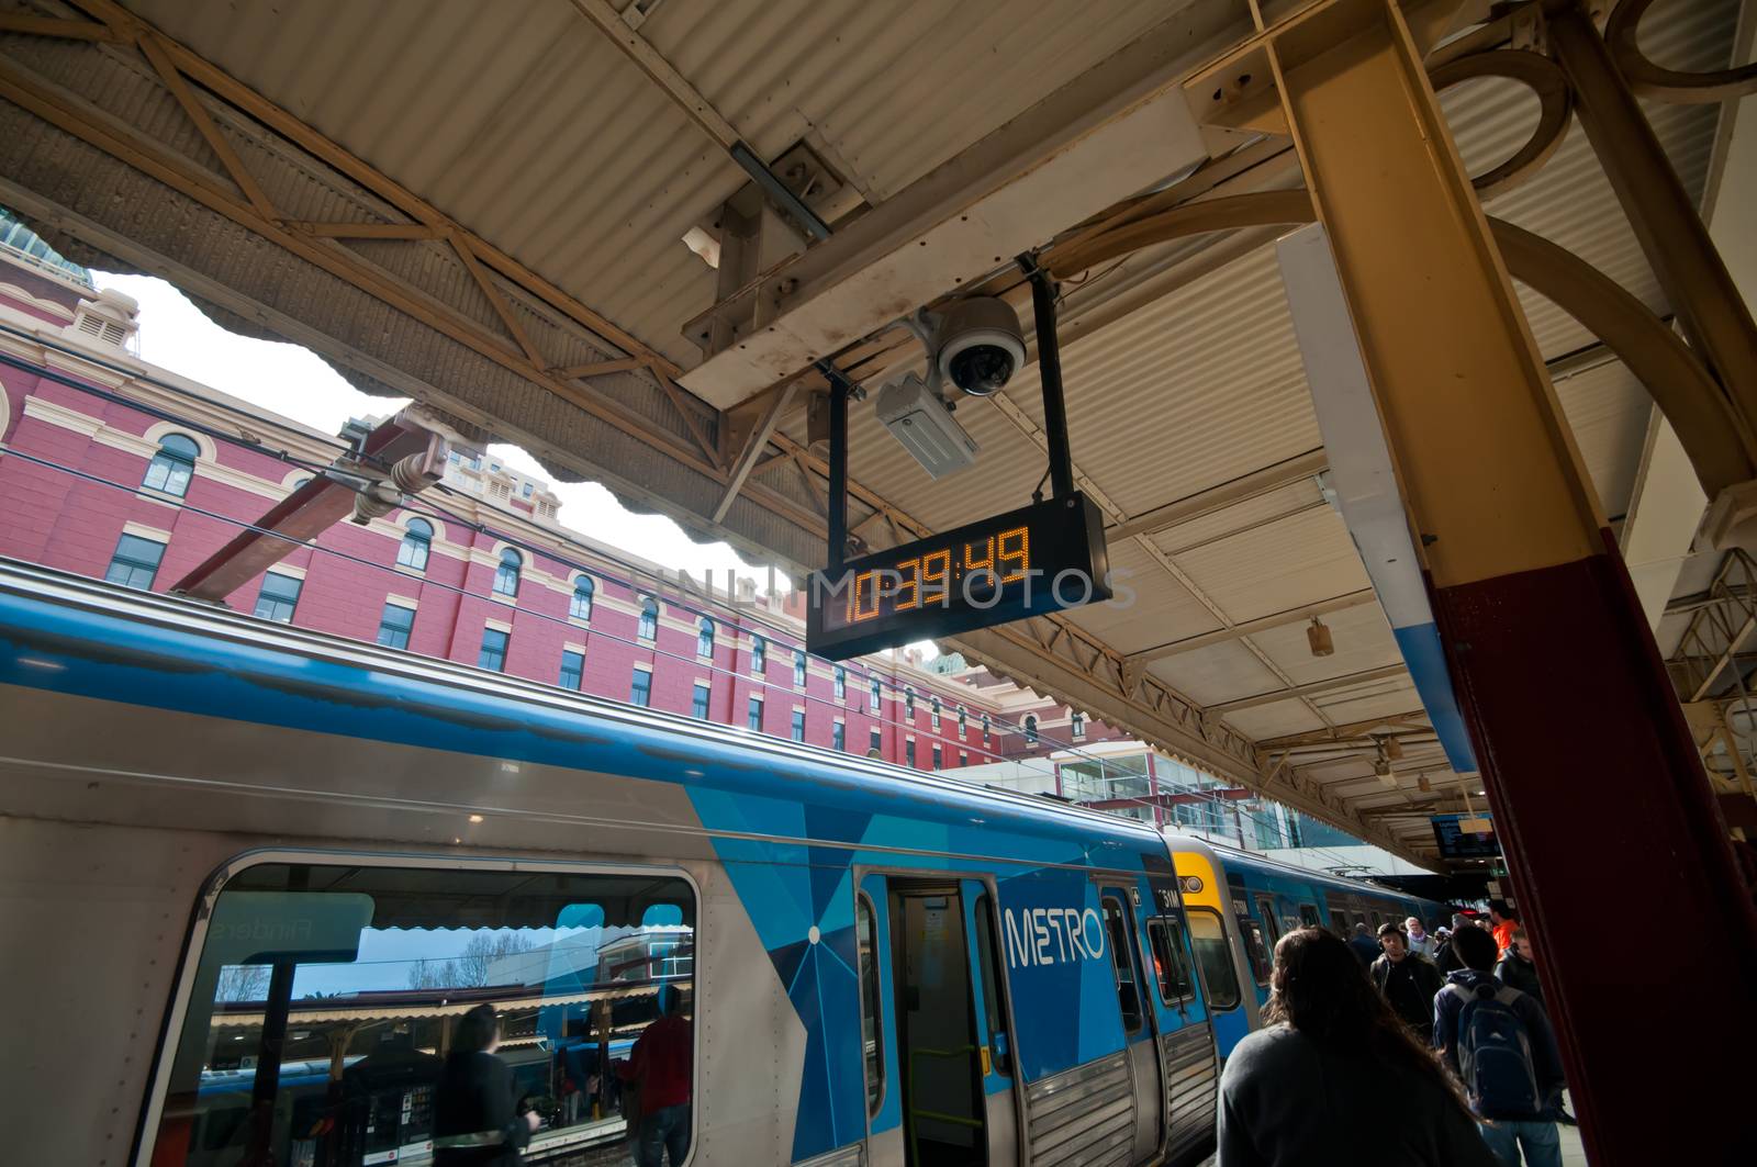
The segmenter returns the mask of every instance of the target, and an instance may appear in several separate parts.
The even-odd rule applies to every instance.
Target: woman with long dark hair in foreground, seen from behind
[[[1497,1167],[1458,1084],[1323,928],[1276,944],[1263,1021],[1219,1079],[1219,1167]]]

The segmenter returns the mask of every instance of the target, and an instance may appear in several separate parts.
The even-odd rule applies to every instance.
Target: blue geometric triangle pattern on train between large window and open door
[[[754,835],[852,842],[871,823],[859,810],[703,787],[691,789],[691,801],[705,826]],[[805,1026],[792,1160],[856,1142],[866,1134],[866,1114],[857,1088],[863,1067],[852,852],[754,838],[715,838],[713,851]]]

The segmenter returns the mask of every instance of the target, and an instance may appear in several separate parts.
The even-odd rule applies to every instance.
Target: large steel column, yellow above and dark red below
[[[1653,1067],[1674,1023],[1757,1032],[1757,914],[1402,11],[1337,0],[1265,40],[1235,81],[1267,56],[1281,91],[1592,1162],[1666,1162],[1652,1116],[1745,1105],[1748,1074]],[[1606,953],[1611,905],[1692,951]],[[1720,1127],[1690,1153],[1732,1155]]]

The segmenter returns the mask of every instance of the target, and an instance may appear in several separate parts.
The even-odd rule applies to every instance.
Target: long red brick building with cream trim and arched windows
[[[0,243],[0,554],[165,591],[344,445],[144,364],[135,327],[128,297]],[[337,524],[227,603],[921,770],[1117,736],[982,670],[810,657],[796,606],[724,578],[680,594],[488,453],[455,455],[446,485]]]

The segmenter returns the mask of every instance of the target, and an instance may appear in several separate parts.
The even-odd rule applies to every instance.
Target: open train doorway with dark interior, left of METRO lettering
[[[987,1167],[987,1047],[977,1033],[963,889],[891,879],[889,893],[905,1162]]]

